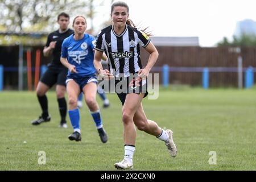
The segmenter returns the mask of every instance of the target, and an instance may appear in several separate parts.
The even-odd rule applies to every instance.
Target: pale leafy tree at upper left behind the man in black
[[[0,0],[0,26],[9,31],[46,31],[57,28],[57,15],[68,13],[71,18],[84,15],[93,19],[95,7],[103,0]],[[92,21],[91,21],[92,22]],[[54,26],[53,26],[54,25]],[[93,24],[90,26],[93,28]]]

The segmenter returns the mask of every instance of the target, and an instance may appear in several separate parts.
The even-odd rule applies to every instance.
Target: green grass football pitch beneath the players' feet
[[[0,93],[0,169],[115,170],[124,153],[118,97],[108,94],[111,106],[101,109],[109,135],[103,144],[85,103],[80,110],[82,141],[69,141],[69,117],[68,129],[59,128],[55,92],[47,96],[52,120],[32,126],[40,114],[35,92]],[[134,170],[256,170],[255,88],[160,88],[158,100],[144,99],[143,107],[148,119],[174,131],[178,153],[171,158],[162,141],[138,131]],[[46,164],[38,164],[39,151],[46,152]],[[215,165],[208,162],[210,151],[216,151]]]

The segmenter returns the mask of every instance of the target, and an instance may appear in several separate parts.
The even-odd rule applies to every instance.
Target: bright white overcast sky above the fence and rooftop
[[[238,21],[256,20],[255,0],[123,1],[130,19],[149,26],[155,36],[198,36],[202,47],[214,46],[224,36],[231,40]],[[110,2],[104,1],[94,22],[108,19]]]

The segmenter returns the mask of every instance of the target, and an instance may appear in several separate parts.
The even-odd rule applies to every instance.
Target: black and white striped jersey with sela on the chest
[[[121,35],[117,35],[113,26],[101,30],[96,39],[98,51],[104,51],[108,56],[110,73],[119,76],[122,73],[128,77],[142,68],[140,46],[147,47],[150,38],[143,32],[126,25]]]

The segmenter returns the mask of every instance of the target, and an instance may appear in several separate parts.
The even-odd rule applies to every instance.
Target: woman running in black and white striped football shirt
[[[172,131],[161,129],[156,122],[148,120],[142,107],[142,99],[147,96],[147,76],[158,59],[158,51],[145,33],[137,30],[129,20],[129,7],[125,2],[114,2],[111,8],[113,25],[104,28],[97,36],[94,53],[94,67],[100,75],[115,78],[115,91],[122,102],[123,137],[125,156],[115,163],[118,169],[133,168],[136,129],[163,140],[172,157],[176,156],[176,146],[172,140]],[[145,68],[142,68],[140,46],[150,57]],[[102,53],[108,56],[108,69],[102,69]],[[125,88],[117,90],[119,82],[125,82]],[[122,84],[123,85],[123,84]]]

